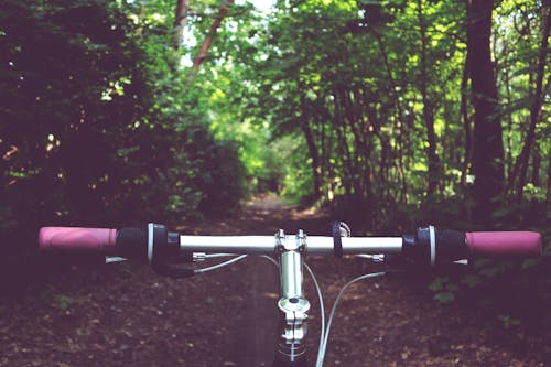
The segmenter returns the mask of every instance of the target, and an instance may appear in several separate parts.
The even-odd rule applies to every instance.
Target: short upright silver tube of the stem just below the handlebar
[[[300,299],[304,296],[304,273],[302,269],[302,255],[298,251],[281,253],[280,259],[281,296]]]

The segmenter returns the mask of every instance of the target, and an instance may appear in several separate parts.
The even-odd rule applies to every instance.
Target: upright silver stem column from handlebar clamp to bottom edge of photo
[[[310,302],[304,294],[304,256],[306,235],[301,229],[295,238],[287,237],[282,229],[276,234],[276,251],[280,267],[282,313],[276,360],[273,366],[306,366],[307,311]]]

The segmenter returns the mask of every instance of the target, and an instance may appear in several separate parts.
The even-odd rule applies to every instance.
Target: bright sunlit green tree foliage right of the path
[[[370,212],[385,212],[381,217],[388,220],[366,216],[363,226],[370,230],[392,226],[391,220],[404,214],[399,206],[408,207],[410,217],[400,222],[440,219],[442,212],[446,223],[463,218],[463,226],[472,220],[474,177],[468,162],[464,163],[467,137],[461,109],[465,100],[467,117],[473,119],[469,85],[462,83],[465,8],[454,1],[420,3],[421,9],[411,1],[278,2],[268,21],[231,20],[233,29],[226,29],[215,45],[216,62],[224,71],[215,79],[225,96],[236,101],[233,116],[242,116],[239,120],[247,125],[268,126],[269,139],[292,139],[293,151],[307,154],[285,161],[288,172],[304,172],[306,166],[311,172],[281,181],[282,193],[313,196],[333,207],[353,202]],[[420,13],[428,24],[426,80],[420,75]],[[501,111],[509,173],[531,106],[529,82],[539,33],[530,30],[540,24],[530,14],[543,13],[537,1],[514,0],[499,2],[495,12],[494,51],[500,66],[499,95],[506,96]],[[526,43],[516,46],[511,40],[518,36]],[[422,83],[428,85],[440,159],[433,173],[436,192],[430,196]],[[228,105],[222,110],[228,111]],[[262,147],[266,140],[257,141]],[[549,144],[537,149],[544,154]],[[542,160],[534,169],[547,172],[548,165]],[[271,168],[277,171],[272,176],[285,177],[279,168]],[[541,203],[545,195],[541,180],[527,184],[526,198]]]

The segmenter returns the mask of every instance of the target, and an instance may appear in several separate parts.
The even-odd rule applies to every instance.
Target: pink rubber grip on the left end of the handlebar
[[[39,248],[47,251],[87,251],[115,253],[117,229],[43,227],[40,229]]]

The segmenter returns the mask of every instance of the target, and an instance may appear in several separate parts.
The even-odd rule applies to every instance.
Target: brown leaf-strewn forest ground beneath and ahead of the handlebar
[[[270,235],[278,228],[327,233],[323,211],[258,197],[187,234]],[[380,270],[365,260],[307,259],[325,302],[350,279]],[[270,366],[278,271],[248,259],[184,280],[131,263],[36,266],[0,298],[0,366]],[[311,359],[320,335],[312,310]],[[475,307],[442,305],[426,284],[378,278],[353,285],[337,310],[326,366],[551,366],[543,335],[506,331]]]

